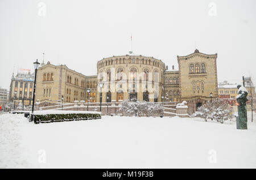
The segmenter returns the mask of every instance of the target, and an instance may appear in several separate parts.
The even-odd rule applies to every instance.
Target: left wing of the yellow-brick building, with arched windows
[[[36,97],[40,102],[60,103],[85,100],[85,75],[65,65],[39,67],[36,75]]]

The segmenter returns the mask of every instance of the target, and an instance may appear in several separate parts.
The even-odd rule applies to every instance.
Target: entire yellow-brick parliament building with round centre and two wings
[[[189,114],[209,100],[210,92],[218,96],[217,54],[195,53],[177,57],[179,70],[160,59],[142,55],[121,55],[97,62],[97,74],[86,76],[65,65],[49,62],[40,67],[36,100],[51,103],[88,101],[118,102],[137,98],[151,102],[187,101]],[[193,65],[193,69],[192,66]],[[190,72],[193,71],[193,72]],[[104,82],[102,89],[100,83]],[[89,94],[87,90],[89,89]],[[171,112],[170,112],[171,113]]]

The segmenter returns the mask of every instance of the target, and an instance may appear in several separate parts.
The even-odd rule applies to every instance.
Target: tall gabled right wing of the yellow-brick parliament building
[[[179,63],[181,101],[188,102],[188,113],[213,98],[218,97],[217,54],[207,55],[195,50],[193,54],[177,56]]]

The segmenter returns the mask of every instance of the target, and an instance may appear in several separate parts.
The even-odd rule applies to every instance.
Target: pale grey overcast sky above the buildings
[[[39,16],[40,2],[46,16]],[[217,15],[210,16],[209,3]],[[212,12],[212,11],[211,11]],[[256,1],[0,1],[0,86],[35,59],[95,74],[104,57],[135,54],[177,67],[196,48],[218,53],[218,81],[256,78]],[[34,70],[33,70],[34,71]]]

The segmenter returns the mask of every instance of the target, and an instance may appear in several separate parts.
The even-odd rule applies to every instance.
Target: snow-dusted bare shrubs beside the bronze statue
[[[192,117],[200,117],[205,121],[207,119],[214,119],[217,122],[224,123],[224,121],[231,119],[233,115],[229,104],[220,98],[216,98],[212,103],[207,101],[200,108],[197,108],[197,112]]]

